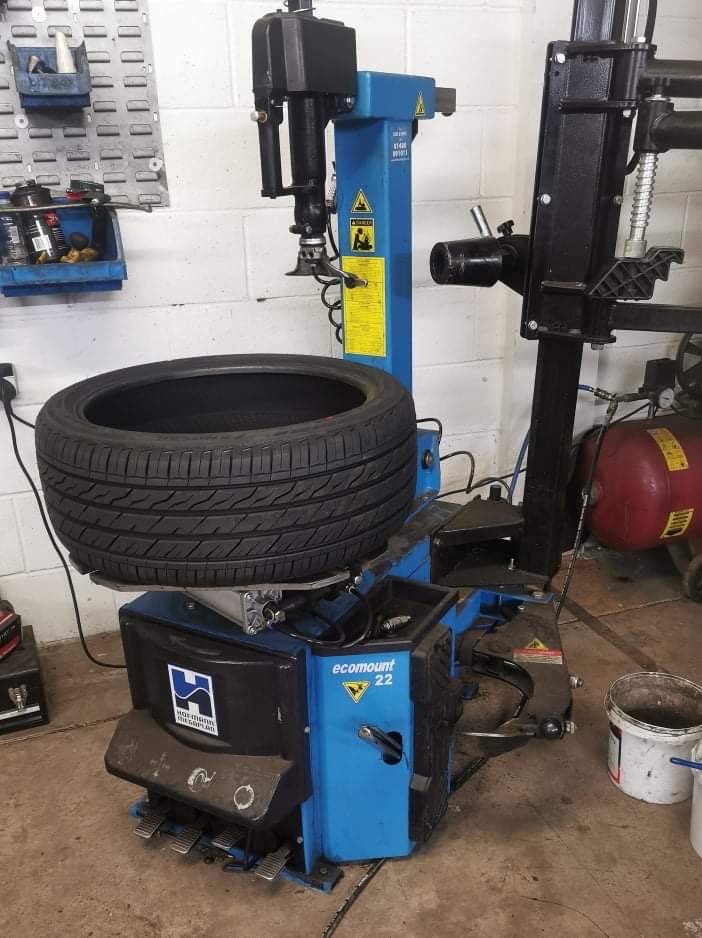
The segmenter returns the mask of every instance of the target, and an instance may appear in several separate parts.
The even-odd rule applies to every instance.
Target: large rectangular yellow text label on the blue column
[[[385,258],[345,257],[344,270],[368,283],[344,287],[344,351],[385,358]]]

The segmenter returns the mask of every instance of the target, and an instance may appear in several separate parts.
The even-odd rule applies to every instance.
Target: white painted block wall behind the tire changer
[[[0,357],[15,363],[17,411],[33,419],[65,385],[112,368],[212,352],[337,351],[316,286],[285,277],[295,255],[290,204],[264,202],[251,107],[250,32],[270,0],[151,0],[161,122],[172,206],[122,216],[130,279],[122,293],[7,301]],[[546,42],[566,38],[570,0],[319,0],[318,12],[358,31],[359,66],[455,84],[458,113],[422,126],[415,144],[415,389],[421,416],[445,423],[444,452],[470,449],[483,475],[505,470],[528,420],[533,346],[517,338],[519,302],[506,289],[439,289],[438,239],[466,237],[482,202],[496,224],[529,217]],[[664,55],[702,57],[702,5],[662,4]],[[207,140],[203,149],[202,140]],[[654,225],[690,265],[666,285],[671,302],[702,293],[702,162],[663,159]],[[667,337],[628,335],[588,380],[636,384]],[[599,376],[597,374],[599,367]],[[581,422],[591,419],[584,410]],[[30,431],[17,428],[36,477]],[[447,487],[465,460],[444,464]],[[116,627],[124,596],[76,577],[89,632]],[[63,574],[39,526],[0,423],[0,591],[44,641],[75,634]]]

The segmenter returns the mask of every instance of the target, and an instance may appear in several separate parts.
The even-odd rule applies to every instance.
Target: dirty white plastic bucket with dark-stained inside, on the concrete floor
[[[609,688],[605,709],[614,784],[652,804],[686,801],[692,773],[670,759],[690,759],[702,740],[702,687],[673,674],[626,674]]]

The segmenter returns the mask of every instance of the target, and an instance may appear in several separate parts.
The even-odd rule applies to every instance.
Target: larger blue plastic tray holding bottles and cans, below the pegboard
[[[92,238],[93,217],[89,206],[61,211],[54,202],[66,241],[74,232]],[[117,213],[107,210],[104,259],[83,264],[27,264],[0,267],[3,296],[40,296],[51,293],[96,293],[121,290],[127,264],[119,233]]]

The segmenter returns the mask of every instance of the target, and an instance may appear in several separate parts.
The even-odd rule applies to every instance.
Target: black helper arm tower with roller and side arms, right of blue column
[[[550,579],[560,566],[570,450],[585,342],[602,348],[615,329],[699,330],[702,310],[653,305],[675,247],[648,247],[659,154],[702,147],[702,112],[676,113],[672,95],[702,95],[702,62],[659,61],[636,33],[635,0],[577,0],[570,42],[549,46],[531,233],[438,244],[439,283],[523,294],[522,335],[538,340],[524,525],[515,537],[518,568]],[[627,40],[631,37],[631,41]],[[635,157],[630,163],[633,140]],[[616,257],[626,176],[636,171],[629,238]],[[637,301],[627,302],[627,301]]]

